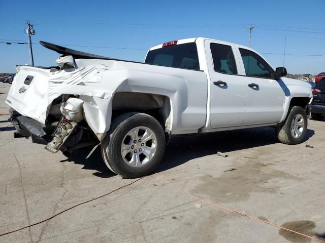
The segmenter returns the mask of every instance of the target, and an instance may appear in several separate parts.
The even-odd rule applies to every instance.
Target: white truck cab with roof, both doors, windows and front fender
[[[183,54],[182,59],[173,59],[175,53]],[[274,126],[285,119],[292,98],[302,98],[305,106],[311,99],[308,85],[280,77],[261,54],[233,43],[203,37],[172,41],[150,48],[145,63],[207,74],[207,119],[201,132]],[[294,87],[290,92],[291,86],[305,94],[296,94]]]

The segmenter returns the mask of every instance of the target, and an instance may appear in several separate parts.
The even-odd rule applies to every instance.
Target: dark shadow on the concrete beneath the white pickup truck
[[[314,130],[307,130],[307,141],[314,135]],[[216,154],[218,151],[227,153],[231,151],[249,149],[269,144],[279,143],[274,128],[254,128],[234,130],[209,134],[172,136],[166,147],[166,152],[156,172],[166,171],[186,163],[188,160]],[[105,165],[100,147],[86,159],[92,148],[76,149],[67,159],[78,165],[83,165],[84,170],[95,170],[94,176],[109,178],[115,176]]]

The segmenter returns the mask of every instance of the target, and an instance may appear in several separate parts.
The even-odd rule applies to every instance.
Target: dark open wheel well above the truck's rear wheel
[[[137,111],[153,116],[167,133],[171,131],[171,102],[169,97],[157,94],[117,92],[112,100],[112,119],[126,113]]]

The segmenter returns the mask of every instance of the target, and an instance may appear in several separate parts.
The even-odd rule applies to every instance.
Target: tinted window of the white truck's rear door
[[[215,71],[237,74],[237,66],[231,46],[211,43],[210,49]]]

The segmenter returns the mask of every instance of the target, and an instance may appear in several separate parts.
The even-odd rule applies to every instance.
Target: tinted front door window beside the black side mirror
[[[239,48],[239,51],[246,76],[273,78],[273,69],[262,57],[247,49]]]

